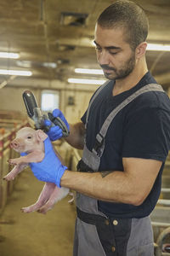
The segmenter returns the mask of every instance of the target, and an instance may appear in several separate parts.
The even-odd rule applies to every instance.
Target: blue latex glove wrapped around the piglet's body
[[[43,143],[45,149],[44,159],[39,163],[30,163],[31,171],[37,179],[43,182],[55,183],[60,188],[60,179],[67,167],[61,164],[49,137]],[[23,156],[26,153],[21,153],[20,155]]]

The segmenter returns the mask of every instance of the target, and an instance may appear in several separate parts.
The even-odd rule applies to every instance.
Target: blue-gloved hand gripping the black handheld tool
[[[68,128],[68,131],[70,130],[69,124],[68,124],[67,120],[65,119],[64,114],[63,114],[59,109],[57,109],[57,108],[54,109],[54,111],[53,111],[53,116],[54,116],[55,118],[56,118],[56,117],[59,117],[60,119],[62,119],[62,121],[65,122],[65,125],[66,125],[67,128]],[[49,120],[47,120],[47,119],[44,121],[44,125],[46,125],[46,126],[50,126],[51,124],[52,124],[51,121],[49,121]],[[50,138],[50,140],[51,140],[52,142],[58,140],[59,138],[61,138],[61,137],[63,136],[63,132],[62,132],[62,130],[59,128],[58,125],[52,126],[52,127],[50,128],[50,130],[47,132],[47,134],[48,134],[48,137]]]

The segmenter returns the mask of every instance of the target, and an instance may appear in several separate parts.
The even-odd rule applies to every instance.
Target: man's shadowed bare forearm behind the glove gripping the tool
[[[82,149],[84,147],[85,126],[82,122],[70,125],[70,135],[65,141],[72,147]]]

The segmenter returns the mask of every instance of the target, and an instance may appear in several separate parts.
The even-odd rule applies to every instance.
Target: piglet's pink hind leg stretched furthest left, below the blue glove
[[[54,183],[45,183],[41,194],[38,197],[38,200],[35,204],[30,207],[21,208],[22,212],[35,212],[41,208],[49,199],[50,195],[53,194],[56,185]]]

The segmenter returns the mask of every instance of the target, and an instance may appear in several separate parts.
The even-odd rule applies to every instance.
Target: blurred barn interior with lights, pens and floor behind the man
[[[88,108],[94,91],[105,82],[94,49],[94,26],[113,0],[1,0],[0,1],[0,255],[71,255],[76,218],[70,195],[47,214],[24,214],[20,207],[37,200],[42,182],[30,170],[12,182],[9,158],[19,154],[9,147],[16,131],[31,120],[23,101],[25,90],[36,96],[42,111],[59,108],[69,123],[76,123]],[[146,60],[150,73],[170,96],[170,2],[134,0],[149,18]],[[153,48],[154,47],[154,48]],[[160,48],[161,47],[161,48]],[[4,56],[4,54],[6,55]],[[14,55],[12,55],[14,54]],[[100,70],[101,71],[101,70]],[[73,80],[74,79],[74,80]],[[89,84],[80,79],[90,80]],[[97,80],[97,82],[96,82]],[[45,99],[45,101],[44,101]],[[48,106],[45,102],[48,99]],[[82,151],[64,140],[54,143],[73,171]],[[164,167],[161,196],[150,218],[156,256],[170,243],[170,158]],[[74,195],[74,191],[73,195]]]

